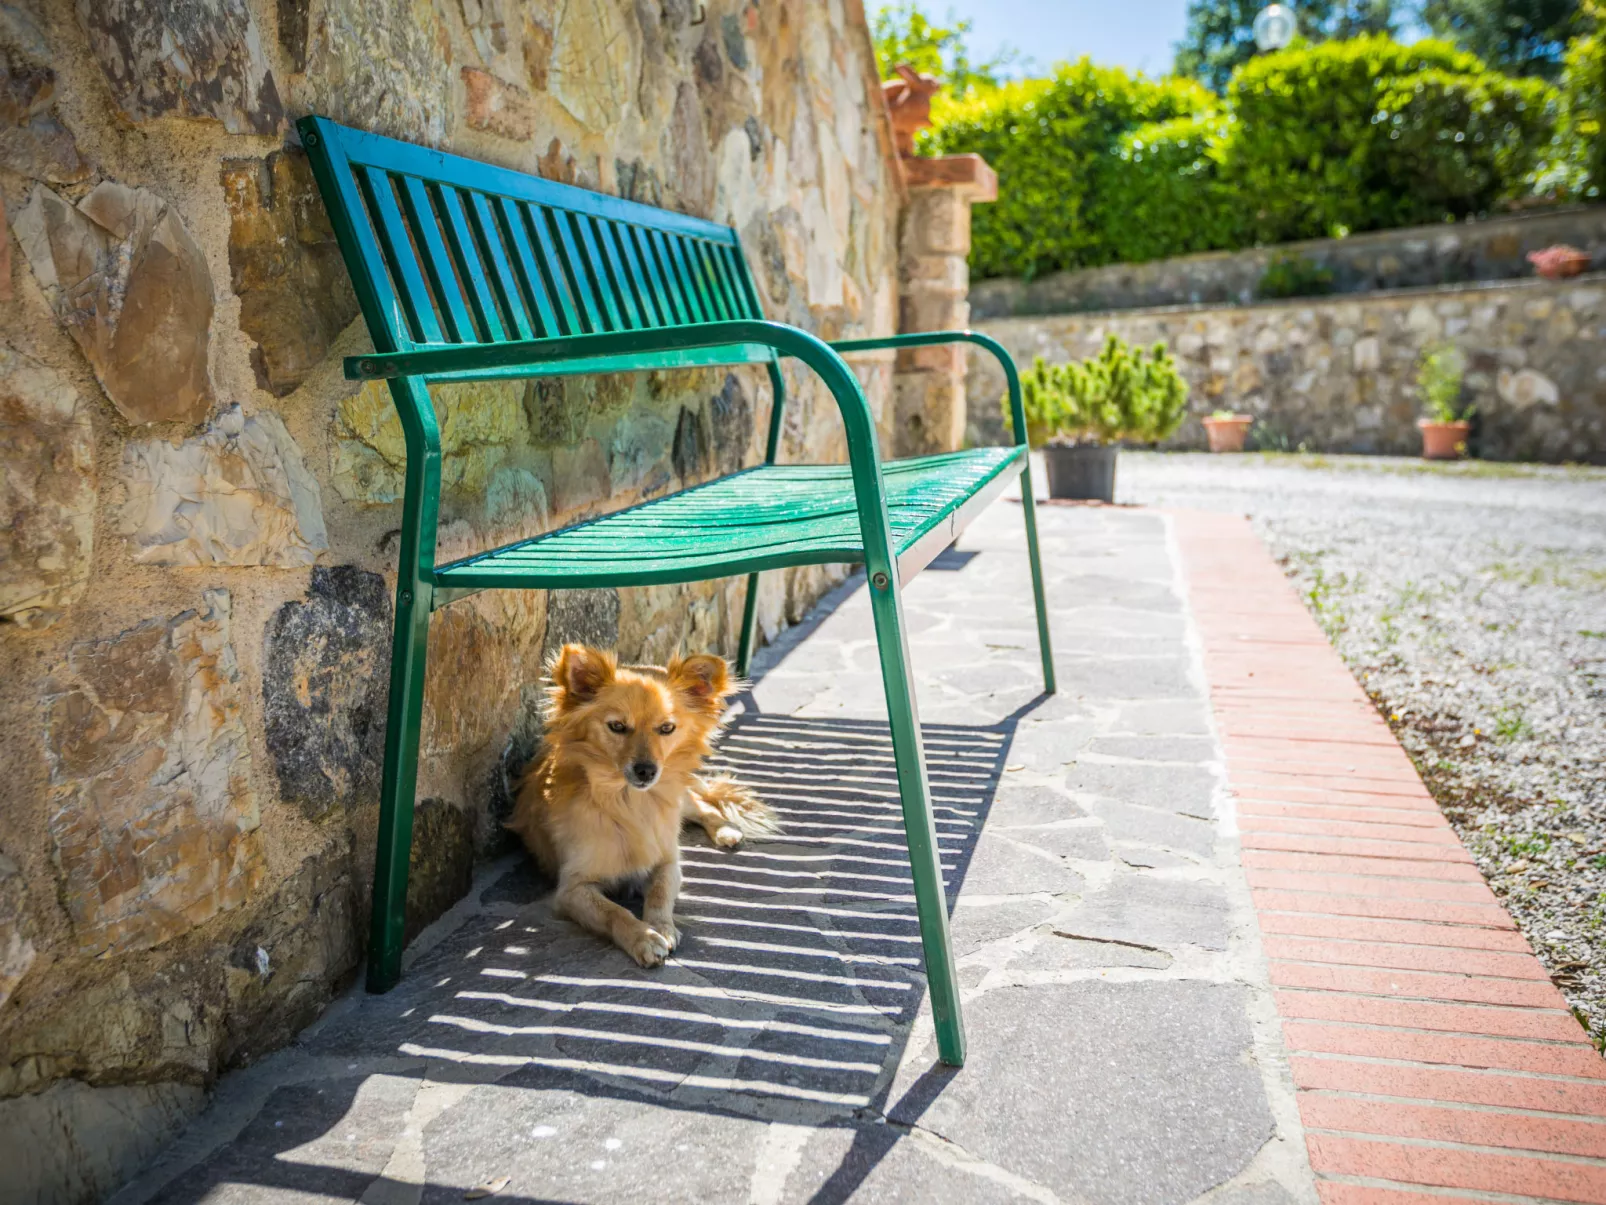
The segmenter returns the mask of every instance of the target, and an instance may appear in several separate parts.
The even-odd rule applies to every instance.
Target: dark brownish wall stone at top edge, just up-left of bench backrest
[[[246,0],[79,0],[77,10],[128,120],[206,117],[230,133],[284,129],[284,104]]]

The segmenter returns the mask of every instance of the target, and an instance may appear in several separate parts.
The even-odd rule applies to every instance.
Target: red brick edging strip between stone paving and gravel
[[[1323,1205],[1606,1202],[1606,1060],[1237,516],[1172,516]]]

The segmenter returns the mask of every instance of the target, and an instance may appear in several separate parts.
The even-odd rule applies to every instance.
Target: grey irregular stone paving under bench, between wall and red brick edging
[[[862,578],[766,651],[721,760],[781,811],[687,837],[642,970],[522,856],[116,1200],[1315,1205],[1166,517],[1018,501],[906,591],[970,1060],[936,1064]],[[1490,951],[1498,953],[1498,951]],[[1323,1023],[1312,1017],[1312,1023]],[[1336,1157],[1336,1155],[1335,1155]]]

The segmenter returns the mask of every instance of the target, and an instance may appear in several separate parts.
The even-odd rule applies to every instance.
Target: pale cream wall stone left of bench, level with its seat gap
[[[310,566],[329,546],[318,482],[273,413],[225,410],[201,435],[124,445],[120,532],[159,566]]]

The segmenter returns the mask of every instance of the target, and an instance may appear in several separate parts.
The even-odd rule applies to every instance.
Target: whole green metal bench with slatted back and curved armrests
[[[931,824],[899,588],[1017,476],[1037,602],[1042,676],[1054,662],[1042,598],[1020,381],[984,334],[946,331],[825,344],[764,321],[736,231],[379,138],[299,122],[374,352],[350,379],[390,382],[406,437],[379,852],[368,990],[402,975],[424,654],[430,612],[479,590],[581,590],[747,575],[739,672],[753,654],[758,574],[862,562],[903,799],[927,982],[941,1059],[964,1062],[959,985]],[[967,341],[999,358],[1017,443],[882,463],[848,352]],[[830,389],[848,464],[777,464],[793,357]],[[506,548],[435,564],[440,431],[430,381],[764,365],[774,387],[761,466]]]

